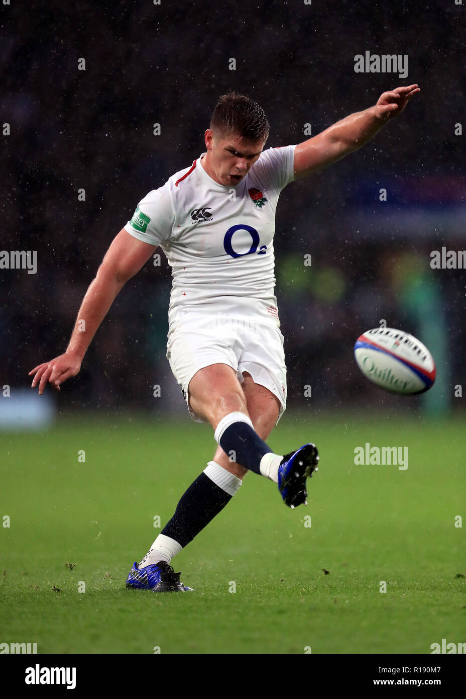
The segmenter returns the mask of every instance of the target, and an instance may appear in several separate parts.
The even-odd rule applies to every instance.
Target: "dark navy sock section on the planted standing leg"
[[[229,493],[201,473],[181,496],[172,519],[160,533],[185,547],[231,499]]]

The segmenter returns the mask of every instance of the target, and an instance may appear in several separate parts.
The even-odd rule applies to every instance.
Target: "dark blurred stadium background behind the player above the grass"
[[[315,135],[417,82],[421,94],[362,150],[280,197],[274,246],[288,405],[461,410],[466,271],[432,270],[430,252],[466,248],[464,136],[454,133],[466,121],[465,5],[11,0],[0,8],[1,122],[11,130],[1,142],[0,248],[38,252],[36,275],[0,271],[0,385],[28,386],[31,368],[64,352],[112,238],[147,192],[205,150],[220,94],[236,89],[264,107],[269,147],[300,143],[304,124]],[[409,75],[355,73],[354,56],[366,50],[407,54]],[[54,395],[61,410],[186,410],[165,358],[170,287],[165,257],[128,282],[80,375]],[[425,396],[391,396],[359,373],[354,341],[380,319],[433,352],[438,379]]]

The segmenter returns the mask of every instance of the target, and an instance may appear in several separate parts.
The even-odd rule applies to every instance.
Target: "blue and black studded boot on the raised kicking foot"
[[[285,505],[294,507],[308,504],[306,478],[317,471],[319,452],[315,444],[306,444],[296,452],[285,454],[278,466],[278,490]]]

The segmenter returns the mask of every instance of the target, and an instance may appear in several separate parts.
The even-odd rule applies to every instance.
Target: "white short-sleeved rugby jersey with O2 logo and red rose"
[[[137,205],[124,229],[167,257],[170,326],[193,310],[280,327],[273,233],[278,196],[294,180],[295,147],[262,152],[236,187],[215,182],[202,153]]]

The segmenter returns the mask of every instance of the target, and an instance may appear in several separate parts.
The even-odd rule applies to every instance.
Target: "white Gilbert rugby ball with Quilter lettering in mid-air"
[[[364,376],[392,393],[420,394],[435,381],[429,350],[403,330],[368,330],[356,340],[354,356]]]

